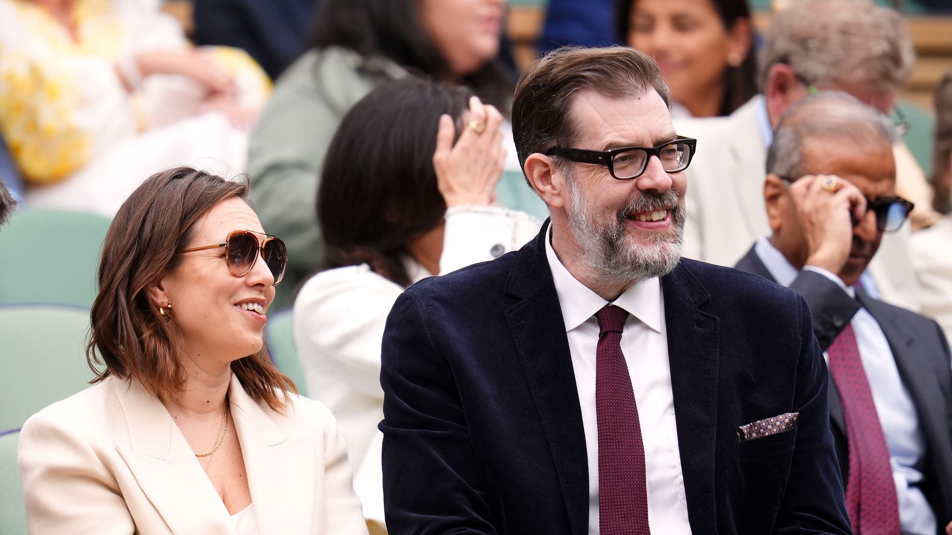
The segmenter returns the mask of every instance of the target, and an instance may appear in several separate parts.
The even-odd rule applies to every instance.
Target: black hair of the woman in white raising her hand
[[[407,76],[370,91],[347,112],[317,191],[322,270],[367,264],[410,285],[407,248],[446,212],[433,168],[440,116],[453,117],[459,133],[471,94]]]

